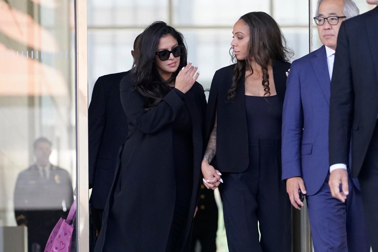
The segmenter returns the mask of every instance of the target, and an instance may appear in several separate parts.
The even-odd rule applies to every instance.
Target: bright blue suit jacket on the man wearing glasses
[[[307,195],[319,191],[329,171],[330,82],[324,45],[291,64],[282,115],[282,179],[301,176]]]

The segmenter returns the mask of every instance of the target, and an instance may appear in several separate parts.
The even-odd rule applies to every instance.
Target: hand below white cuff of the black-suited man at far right
[[[342,192],[340,192],[340,184],[342,185]],[[336,199],[340,199],[342,202],[345,202],[345,199],[347,199],[347,195],[349,194],[347,170],[333,170],[330,174],[328,185],[330,186],[332,196]]]

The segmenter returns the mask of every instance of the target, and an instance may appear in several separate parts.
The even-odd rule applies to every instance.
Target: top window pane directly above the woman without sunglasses
[[[173,0],[174,25],[233,26],[247,12],[270,13],[270,1]]]

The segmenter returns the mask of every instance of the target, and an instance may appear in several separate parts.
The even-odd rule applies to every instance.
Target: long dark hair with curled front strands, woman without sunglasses
[[[227,99],[234,101],[236,88],[240,79],[244,78],[244,71],[249,69],[253,74],[251,59],[262,68],[262,86],[264,96],[270,96],[268,66],[275,60],[288,61],[293,56],[293,51],[286,47],[286,39],[282,34],[276,21],[265,12],[249,12],[241,20],[249,27],[249,56],[245,60],[237,60],[230,48],[231,60],[235,63],[234,73],[232,75],[232,85],[227,92]],[[240,20],[239,19],[239,20]]]

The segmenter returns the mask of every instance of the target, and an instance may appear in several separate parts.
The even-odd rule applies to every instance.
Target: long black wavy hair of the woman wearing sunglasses
[[[168,80],[164,80],[155,64],[155,53],[158,49],[159,39],[170,34],[183,45],[183,54],[177,71]],[[163,21],[156,21],[149,25],[142,33],[138,51],[133,65],[135,90],[144,97],[144,108],[149,109],[158,105],[170,91],[168,84],[175,82],[176,76],[183,66],[186,66],[187,49],[183,34]]]

